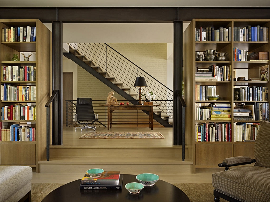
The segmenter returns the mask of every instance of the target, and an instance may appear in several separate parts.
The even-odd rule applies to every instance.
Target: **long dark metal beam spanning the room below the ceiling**
[[[270,19],[270,7],[0,7],[0,19],[43,23],[172,23],[198,19]]]

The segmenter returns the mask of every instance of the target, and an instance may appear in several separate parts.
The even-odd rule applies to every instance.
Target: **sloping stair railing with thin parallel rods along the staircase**
[[[163,83],[106,43],[78,43],[76,47],[70,43],[70,47],[85,55],[95,65],[99,66],[102,71],[106,71],[109,76],[115,77],[114,82],[122,82],[124,88],[130,88],[130,95],[138,94],[138,89],[133,87],[134,81],[137,76],[144,76],[147,87],[143,88],[143,92],[153,92],[156,95],[156,98],[152,100],[153,104],[161,104],[158,107],[161,114],[169,116],[170,121],[172,121],[173,92]]]

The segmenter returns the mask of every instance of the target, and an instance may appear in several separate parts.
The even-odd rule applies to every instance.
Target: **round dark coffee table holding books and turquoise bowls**
[[[122,190],[80,190],[80,180],[67,183],[58,187],[49,193],[42,202],[69,202],[69,201],[99,201],[99,202],[114,202],[114,201],[162,201],[162,202],[190,202],[187,195],[163,180],[158,180],[154,186],[144,187],[139,194],[131,194],[125,188],[125,184],[129,182],[138,182],[136,175],[123,175]]]

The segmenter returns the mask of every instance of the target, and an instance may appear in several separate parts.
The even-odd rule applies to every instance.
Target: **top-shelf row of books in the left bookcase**
[[[11,27],[2,28],[3,42],[31,42],[36,41],[36,27]]]

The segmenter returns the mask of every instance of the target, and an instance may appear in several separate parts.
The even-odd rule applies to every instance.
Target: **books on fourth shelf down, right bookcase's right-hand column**
[[[238,99],[242,101],[267,101],[268,87],[263,86],[243,86],[233,89],[234,94],[238,95]],[[237,98],[237,97],[235,97]]]

